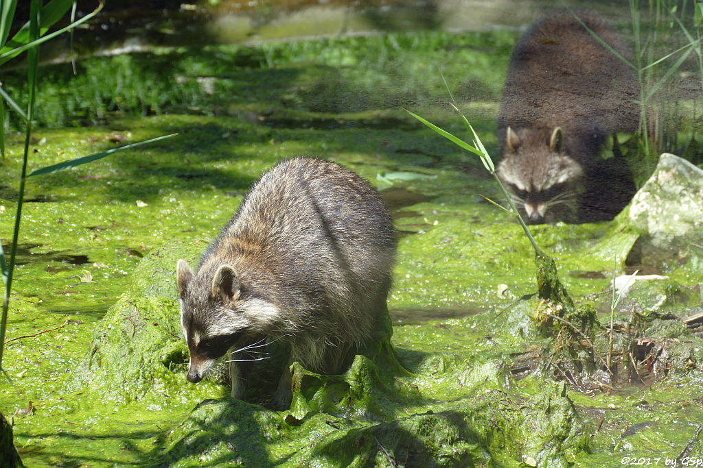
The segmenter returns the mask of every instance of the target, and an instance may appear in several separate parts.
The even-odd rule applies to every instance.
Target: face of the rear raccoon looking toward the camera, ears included
[[[563,152],[562,129],[550,138],[536,131],[508,127],[498,177],[507,186],[520,215],[529,224],[576,220],[583,192],[583,168]]]

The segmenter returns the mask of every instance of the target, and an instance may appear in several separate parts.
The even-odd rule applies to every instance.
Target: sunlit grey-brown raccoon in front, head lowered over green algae
[[[176,265],[188,380],[268,337],[290,346],[288,367],[340,373],[387,314],[395,257],[392,218],[378,192],[336,163],[295,158],[264,173],[193,273]],[[243,399],[250,363],[231,362]],[[290,404],[286,367],[273,397]]]

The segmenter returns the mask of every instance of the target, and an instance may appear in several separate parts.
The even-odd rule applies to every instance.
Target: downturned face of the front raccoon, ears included
[[[245,330],[242,314],[233,310],[239,297],[238,283],[233,283],[236,276],[224,269],[218,269],[204,288],[205,282],[193,274],[188,263],[179,260],[176,266],[181,326],[191,354],[188,380],[193,383],[207,375]]]

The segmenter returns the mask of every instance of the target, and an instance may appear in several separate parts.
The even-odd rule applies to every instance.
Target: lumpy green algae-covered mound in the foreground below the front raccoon
[[[498,382],[502,370],[493,366],[491,380]],[[471,370],[432,378],[455,380],[456,372]],[[471,398],[440,403],[420,401],[413,390],[427,375],[380,376],[363,356],[342,376],[314,377],[318,390],[297,392],[297,408],[283,413],[230,399],[201,403],[169,432],[172,443],[157,465],[568,467],[588,450],[589,431],[563,383],[544,385],[531,401],[489,385],[477,386]],[[392,380],[406,380],[409,391],[389,392]],[[347,387],[340,390],[340,383]],[[297,413],[301,406],[307,410]]]

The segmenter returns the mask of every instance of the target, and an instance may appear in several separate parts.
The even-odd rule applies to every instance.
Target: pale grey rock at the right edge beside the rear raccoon
[[[641,234],[643,253],[663,260],[703,244],[703,170],[673,154],[635,194],[629,220]]]

